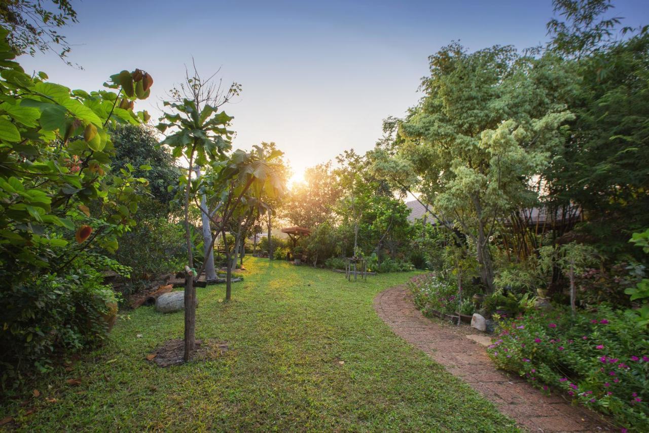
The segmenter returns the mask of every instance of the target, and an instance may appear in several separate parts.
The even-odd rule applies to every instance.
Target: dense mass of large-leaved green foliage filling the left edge
[[[25,73],[7,36],[0,27],[0,339],[15,348],[3,362],[43,369],[105,335],[97,317],[114,298],[99,272],[116,266],[102,254],[135,224],[146,185],[131,164],[110,171],[110,129],[147,120],[133,107],[153,79],[122,71],[108,90],[70,90]]]

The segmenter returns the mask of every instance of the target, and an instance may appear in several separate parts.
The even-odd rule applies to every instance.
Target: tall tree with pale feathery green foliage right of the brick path
[[[492,291],[495,223],[535,203],[532,177],[562,144],[560,127],[573,117],[562,101],[574,80],[550,55],[499,46],[467,53],[456,43],[430,57],[430,72],[426,96],[399,124],[388,168],[441,224],[471,239]]]

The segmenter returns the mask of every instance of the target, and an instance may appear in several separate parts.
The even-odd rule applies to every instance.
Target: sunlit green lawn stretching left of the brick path
[[[39,380],[39,397],[30,387],[28,404],[3,403],[0,419],[11,415],[30,431],[515,430],[374,312],[374,296],[413,272],[348,283],[282,261],[245,265],[231,302],[223,302],[223,285],[197,289],[197,338],[227,341],[220,358],[167,369],[145,361],[182,337],[183,315],[139,308],[72,371]],[[67,384],[71,378],[81,384]]]

